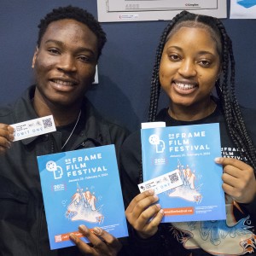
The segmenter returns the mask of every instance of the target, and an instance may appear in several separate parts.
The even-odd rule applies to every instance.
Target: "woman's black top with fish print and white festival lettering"
[[[241,111],[247,125],[247,131],[255,143],[256,130],[253,120],[256,118],[256,111],[247,108],[241,108]],[[242,160],[240,154],[241,148],[237,148],[232,142],[226,129],[223,113],[219,106],[206,118],[189,122],[172,119],[167,112],[167,108],[164,108],[158,114],[156,121],[165,121],[166,126],[219,123],[222,154],[225,157],[233,157]],[[120,156],[122,166],[121,181],[125,205],[127,207],[133,197],[139,193],[137,183],[142,166],[140,131],[134,132],[125,140],[121,148]],[[138,238],[131,229],[132,239],[136,241],[133,243],[135,250],[137,250],[138,255],[154,256],[189,255],[191,252],[193,252],[193,256],[211,254],[241,255],[243,253],[244,255],[256,255],[256,199],[251,204],[240,204],[239,206],[240,207],[234,207],[232,204],[227,206],[230,207],[229,219],[232,219],[232,221],[224,221],[224,223],[216,221],[214,223],[214,230],[208,230],[209,233],[205,240],[201,238],[203,236],[198,235],[201,234],[201,222],[194,223],[195,225],[193,225],[192,230],[191,223],[190,226],[189,223],[173,223],[173,225],[160,224],[158,233],[148,240]],[[204,224],[206,224],[206,222],[204,222]],[[216,241],[216,238],[218,244],[214,245],[213,241]],[[204,250],[200,247],[203,247]]]

